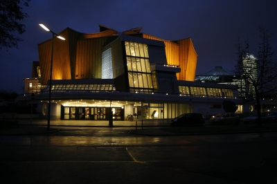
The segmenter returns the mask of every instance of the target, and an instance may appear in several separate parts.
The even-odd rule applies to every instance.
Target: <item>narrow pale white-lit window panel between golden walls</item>
[[[112,60],[111,60],[111,48],[102,52],[102,79],[112,79]]]

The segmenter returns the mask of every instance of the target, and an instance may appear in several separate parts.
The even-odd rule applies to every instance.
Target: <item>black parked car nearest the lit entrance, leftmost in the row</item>
[[[205,120],[202,113],[183,113],[180,116],[170,120],[172,126],[199,125],[202,126]]]

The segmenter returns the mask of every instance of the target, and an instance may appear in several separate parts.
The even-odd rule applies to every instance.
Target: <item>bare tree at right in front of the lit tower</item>
[[[274,59],[274,52],[271,48],[269,29],[264,26],[259,27],[260,42],[257,53],[252,54],[249,39],[246,39],[244,46],[238,38],[235,44],[237,48],[237,63],[235,64],[235,74],[242,76],[244,82],[244,99],[256,100],[258,113],[258,126],[261,126],[260,99],[275,97],[277,91],[277,64]]]

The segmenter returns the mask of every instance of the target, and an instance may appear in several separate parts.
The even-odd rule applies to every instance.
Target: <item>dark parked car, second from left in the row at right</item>
[[[215,124],[224,124],[224,123],[240,123],[240,116],[236,113],[219,113],[216,116],[213,116],[213,118],[210,119],[210,122],[212,125]]]

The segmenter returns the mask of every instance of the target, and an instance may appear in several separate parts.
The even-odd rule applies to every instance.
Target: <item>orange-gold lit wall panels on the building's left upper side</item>
[[[105,42],[82,42],[83,44],[78,45],[80,47],[78,48],[79,51],[77,50],[77,42],[82,39],[105,37],[114,35],[115,33],[115,30],[107,30],[93,34],[78,33],[71,28],[63,30],[59,35],[66,40],[57,39],[56,37],[54,39],[52,79],[70,80],[75,78],[101,77],[101,70],[99,68],[99,66],[101,67],[100,57],[99,55],[93,55],[91,51],[94,50],[93,46],[96,44],[94,53],[97,53],[98,51],[101,53],[100,49],[102,47],[98,48],[98,46],[105,45]],[[89,50],[89,48],[91,50]],[[49,39],[42,44],[38,44],[38,50],[39,66],[41,67],[42,73],[42,84],[47,84],[47,81],[50,78],[52,39]],[[78,64],[76,62],[77,53]],[[82,55],[80,55],[80,53],[82,53]],[[78,77],[76,77],[76,75],[78,75]]]

